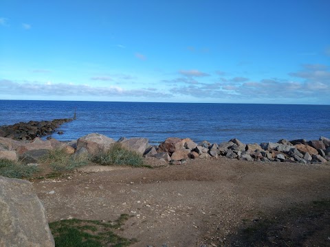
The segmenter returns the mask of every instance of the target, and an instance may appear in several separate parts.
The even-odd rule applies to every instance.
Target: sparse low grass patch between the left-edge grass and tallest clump
[[[56,172],[64,172],[88,165],[89,157],[87,154],[67,154],[65,150],[50,150],[39,162],[49,164]]]

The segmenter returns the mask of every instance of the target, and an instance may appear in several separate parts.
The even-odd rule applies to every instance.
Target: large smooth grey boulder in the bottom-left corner
[[[26,180],[0,176],[0,246],[55,246],[45,208]]]

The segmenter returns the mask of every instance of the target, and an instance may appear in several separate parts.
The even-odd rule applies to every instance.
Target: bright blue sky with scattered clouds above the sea
[[[330,104],[329,0],[0,0],[0,99]]]

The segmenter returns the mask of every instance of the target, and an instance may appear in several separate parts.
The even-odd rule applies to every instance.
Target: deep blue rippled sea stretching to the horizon
[[[0,126],[20,121],[72,118],[52,134],[60,141],[97,132],[115,140],[146,137],[151,144],[167,137],[221,143],[330,138],[330,106],[276,104],[181,104],[0,100]]]

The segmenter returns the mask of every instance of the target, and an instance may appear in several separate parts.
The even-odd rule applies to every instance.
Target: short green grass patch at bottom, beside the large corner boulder
[[[113,233],[129,219],[129,215],[122,214],[115,222],[101,222],[98,220],[61,220],[50,223],[56,247],[101,247],[129,246],[136,239],[126,239]]]

